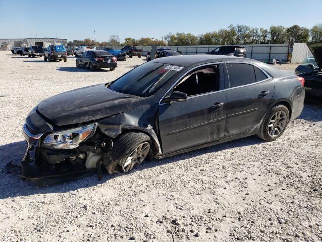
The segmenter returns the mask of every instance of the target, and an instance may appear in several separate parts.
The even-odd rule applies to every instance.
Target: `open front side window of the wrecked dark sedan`
[[[218,91],[219,80],[218,65],[211,65],[193,70],[173,90],[186,93],[187,96]]]

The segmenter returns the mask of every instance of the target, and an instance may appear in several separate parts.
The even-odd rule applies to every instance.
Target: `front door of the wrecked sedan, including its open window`
[[[220,91],[221,67],[216,64],[192,70],[172,90],[186,93],[187,100],[159,105],[163,154],[224,137],[226,93]]]

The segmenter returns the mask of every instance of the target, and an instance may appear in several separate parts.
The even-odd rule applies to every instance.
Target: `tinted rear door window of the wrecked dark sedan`
[[[253,65],[227,63],[230,87],[238,87],[256,82]]]

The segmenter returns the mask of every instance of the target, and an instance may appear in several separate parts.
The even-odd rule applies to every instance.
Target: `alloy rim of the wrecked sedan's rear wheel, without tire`
[[[287,114],[285,111],[277,111],[272,116],[267,126],[270,137],[279,136],[287,125]]]

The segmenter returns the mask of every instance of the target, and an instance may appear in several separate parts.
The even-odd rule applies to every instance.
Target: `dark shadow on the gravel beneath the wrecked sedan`
[[[184,153],[182,155],[176,155],[168,157],[165,159],[154,159],[151,161],[143,162],[140,166],[136,167],[131,171],[139,172],[144,169],[153,168],[159,165],[165,165],[168,163],[177,162],[187,158],[192,158],[200,156],[210,152],[218,152],[226,149],[231,149],[234,147],[248,146],[263,143],[264,141],[260,140],[256,136],[246,137],[243,139],[230,141],[227,143],[202,148],[199,150],[191,151]],[[65,193],[75,191],[79,188],[93,187],[98,184],[106,183],[109,180],[113,180],[116,177],[127,175],[127,173],[119,173],[116,175],[109,175],[105,172],[103,178],[98,180],[97,175],[92,175],[83,179],[76,181],[70,181],[68,183],[55,184],[48,187],[37,187],[28,181],[22,181],[20,177],[15,174],[8,173],[5,166],[8,162],[19,163],[24,155],[27,145],[25,141],[14,142],[10,144],[5,144],[0,146],[0,168],[2,171],[2,176],[0,177],[0,182],[2,186],[0,187],[0,199],[8,197],[18,197],[18,196],[28,196],[33,194],[47,194],[47,193]]]

